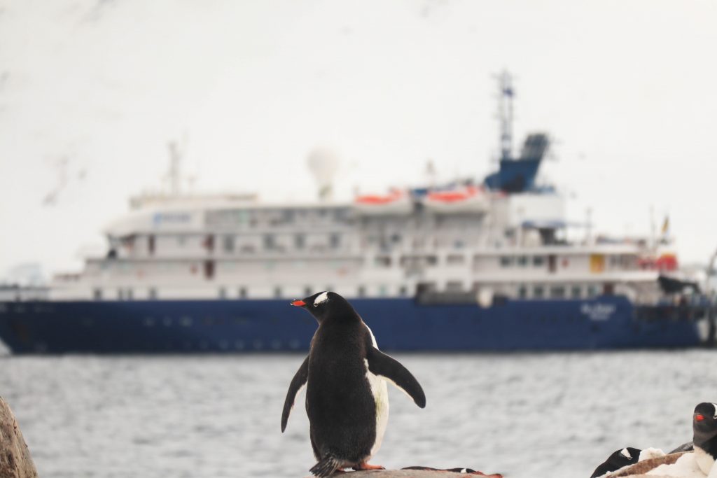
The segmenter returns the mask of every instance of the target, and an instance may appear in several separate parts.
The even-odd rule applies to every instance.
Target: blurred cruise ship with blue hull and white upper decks
[[[386,350],[712,345],[712,302],[670,240],[569,238],[564,196],[536,181],[550,138],[514,156],[512,100],[504,74],[498,171],[481,180],[265,204],[181,193],[174,157],[173,191],[133,198],[81,272],[0,289],[0,338],[13,353],[308,350],[316,325],[289,303],[332,290]]]

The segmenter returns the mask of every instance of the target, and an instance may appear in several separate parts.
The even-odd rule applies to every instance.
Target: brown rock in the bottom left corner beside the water
[[[10,406],[0,397],[0,477],[37,478],[22,431]]]

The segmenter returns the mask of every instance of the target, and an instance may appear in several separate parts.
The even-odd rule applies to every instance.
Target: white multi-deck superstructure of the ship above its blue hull
[[[154,196],[106,229],[109,249],[58,276],[55,299],[347,297],[417,292],[520,298],[619,293],[650,300],[647,242],[567,243],[554,192],[466,199],[402,193],[367,204],[261,204],[252,196]],[[451,196],[452,194],[452,196]],[[386,196],[389,197],[389,196]],[[468,204],[465,204],[465,201]],[[646,265],[647,264],[647,265]]]

